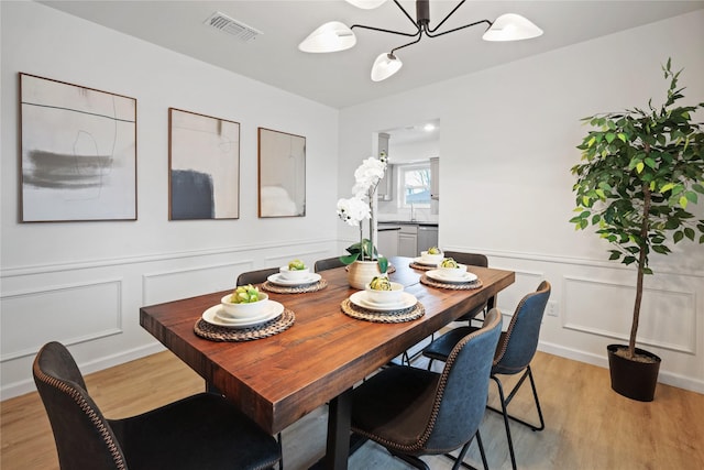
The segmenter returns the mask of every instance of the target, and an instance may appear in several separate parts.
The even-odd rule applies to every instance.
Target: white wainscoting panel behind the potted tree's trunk
[[[635,298],[631,285],[565,276],[563,327],[627,341]],[[693,292],[645,288],[638,343],[695,354],[695,304]]]

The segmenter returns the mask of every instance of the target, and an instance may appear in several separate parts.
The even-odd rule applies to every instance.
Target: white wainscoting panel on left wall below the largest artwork
[[[6,362],[51,340],[74,345],[122,332],[122,280],[3,294],[1,309]]]

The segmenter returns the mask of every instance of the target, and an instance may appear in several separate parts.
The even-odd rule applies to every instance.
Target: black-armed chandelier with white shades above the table
[[[346,0],[348,3],[352,3],[355,7],[367,10],[380,7],[385,1],[386,0]],[[502,14],[493,22],[490,20],[480,20],[451,30],[438,31],[466,0],[462,0],[458,3],[457,7],[454,7],[452,11],[450,11],[450,13],[448,13],[448,15],[444,17],[435,28],[430,28],[429,0],[416,0],[416,20],[408,14],[398,0],[393,1],[414,24],[414,28],[416,29],[415,32],[406,33],[402,31],[386,30],[383,28],[366,26],[364,24],[346,26],[344,23],[339,21],[330,21],[310,33],[308,37],[298,45],[298,48],[308,53],[327,53],[348,50],[356,44],[356,36],[352,31],[354,29],[380,31],[383,33],[414,37],[409,43],[394,47],[391,52],[382,53],[376,57],[376,61],[374,61],[374,65],[372,66],[372,80],[381,81],[391,77],[400,69],[403,63],[398,58],[396,51],[420,42],[424,34],[428,37],[438,37],[466,28],[476,26],[479,24],[485,24],[487,26],[484,35],[482,36],[484,41],[520,41],[537,37],[542,34],[542,30],[540,28],[536,26],[526,18],[515,13]]]

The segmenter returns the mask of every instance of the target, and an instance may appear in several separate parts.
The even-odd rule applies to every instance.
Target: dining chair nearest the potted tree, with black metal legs
[[[492,406],[487,407],[494,412],[501,413],[504,417],[508,450],[514,470],[516,469],[516,455],[510,437],[508,419],[513,419],[528,426],[532,430],[542,430],[546,427],[542,411],[540,409],[540,401],[538,400],[536,382],[530,369],[530,361],[532,361],[536,350],[538,349],[540,325],[542,324],[542,316],[546,311],[548,299],[550,298],[550,283],[548,281],[543,281],[540,283],[536,292],[526,295],[520,300],[510,323],[508,324],[508,328],[502,334],[501,339],[498,340],[496,354],[494,357],[494,364],[492,367],[492,380],[496,382],[496,386],[498,387],[498,397],[502,408],[497,409]],[[431,342],[422,353],[431,361],[446,361],[454,346],[461,341],[464,336],[474,330],[474,327],[454,328]],[[518,373],[522,373],[522,375],[508,395],[506,395],[498,375],[515,375]],[[532,397],[536,403],[540,425],[530,424],[508,414],[508,404],[514,400],[516,392],[518,392],[526,379],[530,380],[530,387],[532,389]]]

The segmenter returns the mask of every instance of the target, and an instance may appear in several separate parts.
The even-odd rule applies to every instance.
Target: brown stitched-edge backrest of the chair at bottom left
[[[88,395],[70,352],[45,345],[34,359],[34,382],[52,424],[62,470],[124,470],[122,449],[108,420]]]

